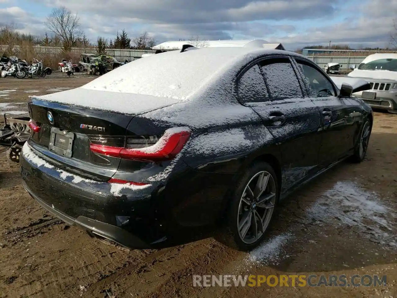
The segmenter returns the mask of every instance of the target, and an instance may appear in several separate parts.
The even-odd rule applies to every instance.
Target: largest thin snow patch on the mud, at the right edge
[[[397,232],[397,215],[380,201],[376,192],[354,182],[337,182],[312,205],[307,215],[327,224],[358,228],[374,242],[397,246],[397,239],[390,238]]]

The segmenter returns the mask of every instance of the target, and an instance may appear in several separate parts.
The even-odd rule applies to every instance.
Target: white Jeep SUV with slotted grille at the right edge
[[[397,54],[378,53],[366,57],[348,77],[362,78],[370,90],[354,93],[373,108],[397,113]]]

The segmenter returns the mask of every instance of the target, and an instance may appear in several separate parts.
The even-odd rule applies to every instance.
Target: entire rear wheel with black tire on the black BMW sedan
[[[255,194],[257,191],[254,186],[259,180],[265,181],[264,178],[266,177],[268,182],[259,199],[250,199],[249,197],[252,195],[247,196],[247,194]],[[241,251],[249,251],[258,246],[264,239],[266,230],[272,220],[278,198],[278,181],[272,166],[265,162],[253,164],[241,176],[230,197],[228,197],[229,205],[225,213],[225,226],[222,227],[221,234],[218,237],[219,241]],[[262,203],[260,203],[261,200]],[[263,203],[264,201],[266,201],[266,204]],[[259,224],[260,218],[262,219],[262,226]],[[245,224],[243,223],[244,219],[248,220],[245,221]],[[256,220],[252,221],[252,219]],[[250,224],[248,224],[249,221]],[[239,229],[239,226],[242,228]]]

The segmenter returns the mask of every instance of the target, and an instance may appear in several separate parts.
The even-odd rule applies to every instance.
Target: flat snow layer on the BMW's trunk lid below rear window
[[[33,96],[32,98],[122,114],[143,114],[180,101],[171,97],[154,97],[151,95],[91,90],[81,87],[47,95]]]

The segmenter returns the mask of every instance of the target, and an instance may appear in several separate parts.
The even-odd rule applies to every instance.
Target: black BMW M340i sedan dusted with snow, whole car
[[[225,242],[250,250],[280,200],[364,159],[373,115],[353,87],[281,50],[141,58],[31,98],[23,184],[53,215],[127,248],[222,219]]]

